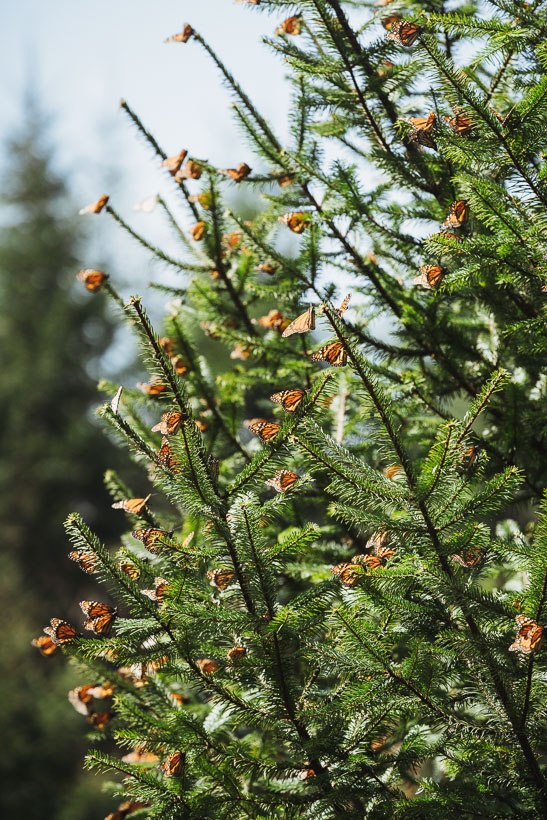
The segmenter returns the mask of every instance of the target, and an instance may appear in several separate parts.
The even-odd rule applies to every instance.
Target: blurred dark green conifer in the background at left
[[[74,507],[94,519],[109,506],[102,475],[116,454],[87,417],[99,397],[84,362],[105,352],[113,325],[103,300],[73,284],[83,235],[45,126],[31,106],[0,200],[0,802],[5,817],[86,820],[102,816],[103,798],[81,773],[81,720],[64,708],[73,672],[44,663],[30,640],[54,603],[89,592],[62,523]],[[101,513],[107,542],[118,526]]]

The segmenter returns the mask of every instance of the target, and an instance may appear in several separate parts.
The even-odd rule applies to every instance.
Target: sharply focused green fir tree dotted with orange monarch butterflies
[[[253,160],[168,157],[122,104],[193,227],[160,200],[177,260],[102,208],[181,284],[161,334],[110,288],[151,380],[102,415],[155,490],[108,474],[118,555],[67,522],[120,607],[49,629],[107,692],[81,694],[120,751],[88,763],[126,815],[544,816],[545,14],[249,5],[288,144],[190,25]]]

